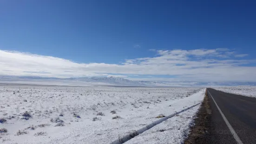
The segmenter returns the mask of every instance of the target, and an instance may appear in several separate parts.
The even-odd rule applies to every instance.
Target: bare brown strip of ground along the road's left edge
[[[188,138],[184,141],[184,144],[207,144],[207,136],[210,127],[210,103],[205,92],[203,103],[197,112],[197,118],[195,119],[195,125],[191,127]]]

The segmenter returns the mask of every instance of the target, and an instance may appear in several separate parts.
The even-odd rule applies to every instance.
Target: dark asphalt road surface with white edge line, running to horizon
[[[256,144],[256,98],[230,94],[211,88],[207,90],[243,144]],[[209,129],[210,137],[207,144],[237,144],[209,93],[208,96],[212,114]]]

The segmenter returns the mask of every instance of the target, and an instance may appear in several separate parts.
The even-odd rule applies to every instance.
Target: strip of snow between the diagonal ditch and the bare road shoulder
[[[183,100],[187,100],[187,104],[191,105],[193,102],[202,102],[203,97],[204,93],[203,91],[200,91]],[[182,102],[180,104],[180,106],[182,106]],[[197,105],[187,111],[177,114],[137,137],[132,138],[125,144],[182,144],[189,134],[190,126],[193,124],[199,107],[200,105]]]

